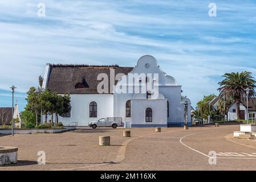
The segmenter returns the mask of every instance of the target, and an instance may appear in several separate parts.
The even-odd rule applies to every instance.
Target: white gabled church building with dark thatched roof
[[[181,100],[181,85],[150,55],[135,67],[47,64],[43,88],[70,94],[71,112],[58,117],[63,125],[105,117],[121,117],[126,127],[191,125],[190,100]]]

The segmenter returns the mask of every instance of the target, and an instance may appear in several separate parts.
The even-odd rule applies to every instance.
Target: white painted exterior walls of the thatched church
[[[149,67],[146,67],[145,64],[148,64]],[[44,87],[46,86],[48,71],[49,68],[47,65],[46,73],[44,75]],[[184,105],[181,104],[181,86],[177,85],[175,78],[166,75],[166,73],[160,69],[155,57],[149,55],[140,57],[131,73],[158,73],[158,78],[152,77],[151,79],[153,80],[154,78],[154,80],[157,80],[159,93],[162,94],[162,97],[156,100],[147,100],[146,98],[135,99],[134,96],[137,94],[136,92],[114,94],[71,94],[71,118],[59,117],[59,122],[62,122],[64,125],[68,125],[71,122],[78,122],[79,126],[87,126],[88,122],[96,121],[100,118],[122,117],[123,121],[132,120],[133,124],[141,124],[145,121],[145,109],[147,107],[152,107],[153,121],[155,124],[166,124],[167,122],[174,124],[184,123]],[[128,77],[129,76],[121,77],[115,88],[120,86],[120,83],[124,80],[127,80],[127,86],[125,87],[133,88],[134,82],[132,83],[132,86],[129,85]],[[125,104],[128,100],[132,100],[131,118],[125,118]],[[169,118],[167,118],[167,100],[169,101]],[[92,101],[97,103],[97,118],[89,117],[89,104]],[[48,119],[51,118],[49,117]]]

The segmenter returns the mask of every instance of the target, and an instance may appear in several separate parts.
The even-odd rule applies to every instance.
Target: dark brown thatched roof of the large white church
[[[127,75],[133,67],[119,67],[118,65],[52,65],[46,88],[59,94],[96,94],[97,81],[100,73],[108,75],[110,80],[110,69],[115,70],[115,76],[118,73]],[[117,81],[115,81],[115,84]],[[108,81],[110,89],[110,81]],[[109,91],[110,92],[110,91]]]

